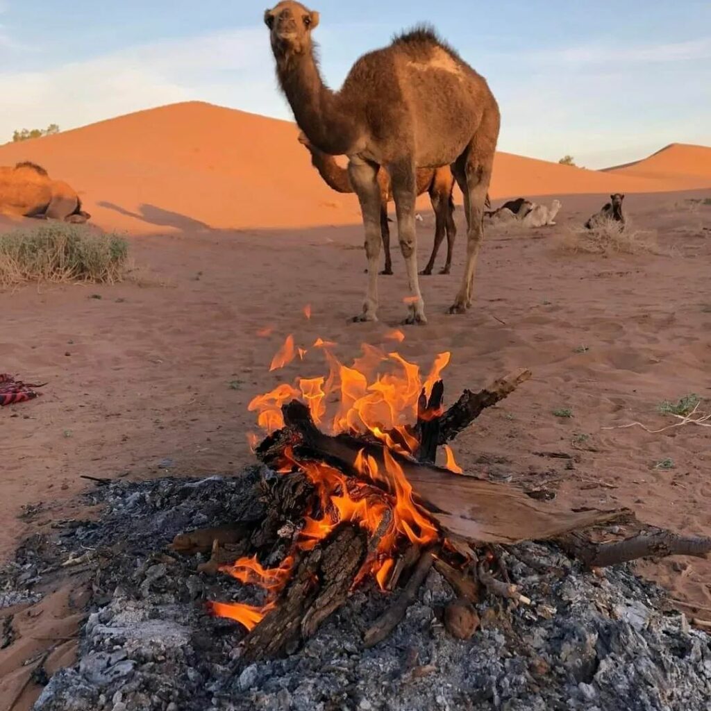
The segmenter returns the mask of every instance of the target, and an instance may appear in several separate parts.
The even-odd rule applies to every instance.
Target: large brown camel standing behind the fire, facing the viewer
[[[358,59],[339,92],[324,85],[311,31],[319,14],[294,0],[264,13],[277,78],[296,123],[324,153],[348,156],[348,176],[365,227],[368,291],[357,321],[378,310],[380,187],[378,169],[390,173],[397,236],[407,265],[408,323],[425,323],[415,242],[415,168],[452,166],[467,223],[464,278],[450,313],[471,306],[476,259],[483,237],[483,206],[501,122],[491,90],[429,28],[417,28]]]

